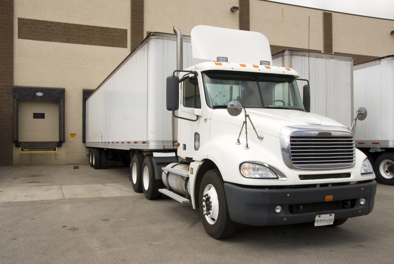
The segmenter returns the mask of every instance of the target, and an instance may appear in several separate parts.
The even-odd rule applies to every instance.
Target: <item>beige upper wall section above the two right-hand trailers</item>
[[[324,13],[332,16],[332,22],[324,21]],[[250,30],[263,33],[271,45],[307,49],[309,19],[311,50],[324,52],[326,40],[332,53],[353,55],[355,63],[394,54],[394,20],[266,0],[250,1]]]

